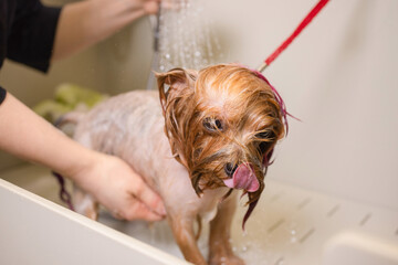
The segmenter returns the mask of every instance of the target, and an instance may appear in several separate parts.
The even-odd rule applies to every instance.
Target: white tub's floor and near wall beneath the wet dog
[[[49,200],[0,180],[0,264],[187,264],[166,222],[148,227],[105,212],[101,223],[81,216],[54,203],[56,181],[36,166],[1,177]],[[397,212],[276,181],[266,182],[245,232],[244,211],[239,208],[231,241],[247,264],[398,264]]]

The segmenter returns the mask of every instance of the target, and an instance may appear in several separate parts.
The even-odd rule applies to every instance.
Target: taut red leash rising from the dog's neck
[[[293,42],[293,40],[302,32],[302,30],[304,30],[305,26],[307,26],[307,24],[315,18],[315,15],[325,7],[328,1],[329,0],[320,0],[320,2],[298,24],[295,31],[258,68],[260,73],[263,72],[266,66],[269,66]]]

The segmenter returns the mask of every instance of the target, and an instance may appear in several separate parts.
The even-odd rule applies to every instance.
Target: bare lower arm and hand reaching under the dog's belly
[[[73,141],[10,93],[0,105],[0,149],[69,177],[121,218],[164,218],[160,198],[127,163]]]

